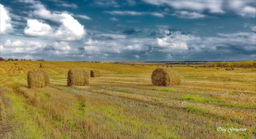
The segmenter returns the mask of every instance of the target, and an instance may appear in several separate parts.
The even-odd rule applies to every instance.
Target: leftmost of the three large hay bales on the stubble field
[[[50,78],[46,71],[28,71],[28,87],[29,88],[42,88],[50,85]]]

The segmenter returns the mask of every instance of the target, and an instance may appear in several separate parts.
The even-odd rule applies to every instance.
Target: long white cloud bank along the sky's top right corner
[[[169,6],[176,10],[210,12],[213,14],[236,13],[242,17],[256,17],[255,0],[143,0],[148,4]]]

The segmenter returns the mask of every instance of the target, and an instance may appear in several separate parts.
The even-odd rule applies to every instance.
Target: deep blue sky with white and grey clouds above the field
[[[0,0],[1,57],[256,60],[255,0]]]

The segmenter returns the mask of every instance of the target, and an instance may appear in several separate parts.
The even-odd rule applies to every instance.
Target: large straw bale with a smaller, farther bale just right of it
[[[70,69],[67,74],[67,86],[85,86],[89,84],[89,74],[86,70]]]

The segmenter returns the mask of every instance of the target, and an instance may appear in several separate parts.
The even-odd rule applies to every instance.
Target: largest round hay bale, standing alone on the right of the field
[[[181,84],[181,76],[173,68],[157,68],[151,75],[152,84],[156,86],[170,86]]]

